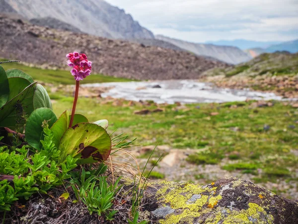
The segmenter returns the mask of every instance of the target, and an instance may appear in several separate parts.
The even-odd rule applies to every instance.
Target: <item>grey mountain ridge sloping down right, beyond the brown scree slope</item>
[[[196,55],[213,57],[229,64],[239,64],[251,59],[250,56],[237,47],[191,43],[183,40],[172,39],[162,35],[156,35],[155,38],[172,43]]]

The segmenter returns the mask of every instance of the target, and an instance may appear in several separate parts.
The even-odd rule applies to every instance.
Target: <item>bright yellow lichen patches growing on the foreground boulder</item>
[[[236,185],[239,184],[236,183]],[[167,190],[170,191],[166,193]],[[216,190],[217,187],[202,187],[194,184],[178,186],[170,182],[164,183],[164,187],[156,193],[156,197],[172,209],[183,212],[180,215],[170,214],[159,222],[161,224],[192,224],[194,218],[200,219],[200,216],[205,214],[205,224],[217,224],[220,221],[223,221],[223,224],[252,223],[251,219],[260,224],[264,223],[264,220],[268,224],[273,223],[273,216],[270,213],[267,214],[264,208],[255,203],[248,203],[248,209],[240,211],[218,206],[222,196],[213,196]],[[201,198],[194,203],[189,203],[193,195],[201,195]]]

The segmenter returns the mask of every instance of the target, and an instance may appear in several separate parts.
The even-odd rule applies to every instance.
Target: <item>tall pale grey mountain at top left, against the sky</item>
[[[52,17],[96,36],[154,38],[152,32],[130,14],[104,0],[1,0],[2,7],[6,11],[14,10],[27,19]]]

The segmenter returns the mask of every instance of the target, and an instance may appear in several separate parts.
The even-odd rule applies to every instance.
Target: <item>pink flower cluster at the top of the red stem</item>
[[[88,61],[85,54],[74,52],[67,54],[66,57],[69,59],[68,66],[73,67],[71,73],[76,81],[83,80],[90,75],[92,62]]]

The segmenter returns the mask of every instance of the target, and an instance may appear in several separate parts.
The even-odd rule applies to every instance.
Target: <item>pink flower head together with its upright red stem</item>
[[[75,94],[74,94],[74,105],[73,105],[73,111],[70,121],[70,127],[72,127],[74,122],[74,112],[76,108],[76,102],[78,98],[78,90],[79,90],[79,81],[83,80],[87,76],[90,75],[91,69],[92,69],[92,62],[88,61],[88,58],[85,54],[79,54],[78,52],[69,53],[66,55],[66,57],[69,59],[67,61],[68,66],[73,67],[71,73],[74,76],[75,82]]]

